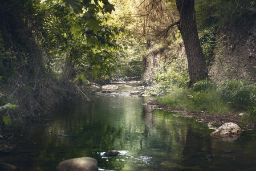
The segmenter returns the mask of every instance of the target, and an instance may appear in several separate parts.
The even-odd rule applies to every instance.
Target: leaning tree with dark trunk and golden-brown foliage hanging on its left
[[[174,10],[175,2],[178,14]],[[170,28],[178,26],[188,59],[189,86],[193,86],[197,80],[208,78],[208,69],[198,38],[194,1],[176,0],[175,2],[165,0],[142,1],[140,6],[143,8],[139,9],[138,13],[140,17],[144,18],[143,33],[146,35],[147,43],[153,39],[153,35],[158,38],[166,37],[171,33]]]

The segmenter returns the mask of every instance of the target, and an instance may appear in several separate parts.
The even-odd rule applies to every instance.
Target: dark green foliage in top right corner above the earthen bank
[[[250,22],[256,14],[253,10],[255,9],[255,0],[198,0],[195,7],[199,30],[204,30],[212,25],[222,29],[232,22],[240,25],[241,23]]]

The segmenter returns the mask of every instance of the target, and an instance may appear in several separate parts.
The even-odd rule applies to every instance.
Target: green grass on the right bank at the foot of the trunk
[[[156,99],[157,103],[193,113],[245,111],[256,114],[256,86],[243,81],[229,80],[216,84],[202,80],[190,89],[177,86],[170,89],[172,91],[168,95]]]

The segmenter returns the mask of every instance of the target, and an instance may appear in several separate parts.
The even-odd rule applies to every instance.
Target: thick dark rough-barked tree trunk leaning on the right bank
[[[197,80],[208,78],[208,69],[198,38],[194,0],[176,0],[176,5],[180,13],[178,28],[181,31],[188,58],[189,86],[193,86]]]

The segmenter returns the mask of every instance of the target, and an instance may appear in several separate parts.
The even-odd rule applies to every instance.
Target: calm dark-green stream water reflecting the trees
[[[206,123],[152,109],[125,89],[90,98],[18,127],[17,149],[1,159],[20,170],[55,170],[76,157],[96,158],[99,170],[256,170],[255,131],[222,141]],[[120,154],[105,155],[111,149]]]

